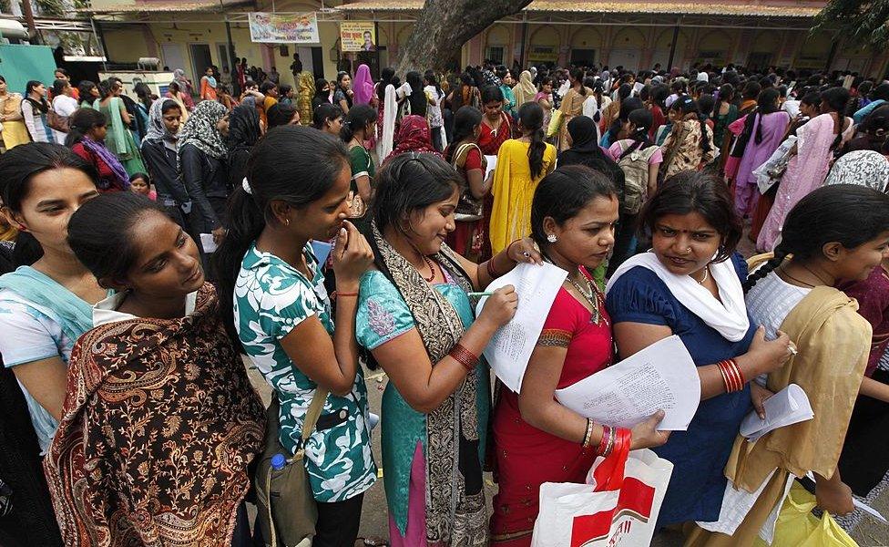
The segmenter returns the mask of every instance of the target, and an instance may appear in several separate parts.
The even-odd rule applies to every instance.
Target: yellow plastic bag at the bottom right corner
[[[771,547],[858,547],[849,534],[825,512],[819,520],[812,514],[815,496],[794,481],[775,525]],[[768,547],[757,538],[756,547]]]

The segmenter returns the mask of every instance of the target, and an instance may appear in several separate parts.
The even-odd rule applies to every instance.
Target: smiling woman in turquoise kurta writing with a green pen
[[[382,439],[393,547],[487,544],[490,391],[479,356],[516,313],[517,296],[502,287],[475,317],[467,293],[540,255],[528,239],[479,265],[451,251],[459,197],[455,170],[432,154],[397,156],[377,178],[376,267],[361,277],[355,335],[390,379]]]

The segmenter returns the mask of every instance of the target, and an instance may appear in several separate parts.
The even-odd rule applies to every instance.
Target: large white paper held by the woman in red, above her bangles
[[[632,428],[658,410],[658,428],[685,431],[700,403],[698,368],[677,335],[664,338],[572,386],[556,390],[567,408],[597,423]]]

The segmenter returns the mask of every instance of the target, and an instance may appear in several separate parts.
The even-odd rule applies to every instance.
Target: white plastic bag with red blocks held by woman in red
[[[589,470],[591,484],[545,482],[532,547],[639,547],[649,545],[667,492],[673,464],[649,449],[629,453],[619,490],[597,491],[594,475],[605,459]],[[619,465],[616,466],[619,472]],[[609,481],[612,484],[616,481]]]

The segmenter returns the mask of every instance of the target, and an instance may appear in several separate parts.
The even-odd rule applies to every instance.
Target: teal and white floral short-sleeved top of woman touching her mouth
[[[291,454],[299,444],[302,421],[317,384],[293,366],[281,339],[312,315],[333,334],[324,274],[310,245],[302,253],[312,272],[311,281],[274,254],[258,251],[255,243],[250,245],[234,292],[240,343],[281,403],[281,446]],[[361,368],[352,393],[327,397],[318,427],[306,443],[305,462],[317,501],[348,500],[376,481]]]

